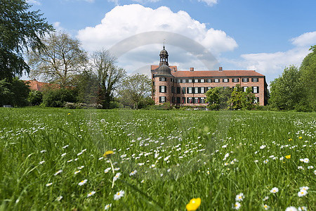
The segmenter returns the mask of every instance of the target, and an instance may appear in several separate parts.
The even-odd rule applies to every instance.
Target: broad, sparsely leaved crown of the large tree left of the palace
[[[31,76],[43,77],[47,82],[60,84],[60,87],[72,85],[74,76],[82,72],[88,62],[80,41],[58,32],[42,42],[46,46],[44,49],[29,53]]]

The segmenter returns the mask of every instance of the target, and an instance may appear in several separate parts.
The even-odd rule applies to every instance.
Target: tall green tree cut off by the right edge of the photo
[[[301,82],[305,90],[308,107],[311,110],[316,110],[316,45],[311,46],[311,53],[308,53],[301,64]],[[312,86],[310,86],[312,85]]]

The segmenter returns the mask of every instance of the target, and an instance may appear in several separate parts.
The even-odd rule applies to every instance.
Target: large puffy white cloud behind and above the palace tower
[[[124,68],[129,72],[145,65],[159,63],[159,51],[162,49],[164,39],[170,55],[170,65],[180,63],[181,68],[186,69],[190,67],[210,69],[211,65],[205,63],[201,65],[204,61],[199,61],[199,66],[193,66],[197,64],[195,61],[197,58],[206,60],[205,55],[211,58],[214,64],[216,63],[210,53],[205,53],[206,50],[218,56],[222,52],[237,48],[235,39],[225,32],[208,29],[204,23],[192,19],[185,11],[173,13],[165,6],[157,9],[139,4],[116,6],[105,14],[99,25],[79,30],[77,35],[88,51],[110,49],[114,44],[129,37],[133,39],[125,40],[120,46],[121,49],[116,49],[124,53],[129,51],[129,56],[119,58],[119,65],[124,63]]]

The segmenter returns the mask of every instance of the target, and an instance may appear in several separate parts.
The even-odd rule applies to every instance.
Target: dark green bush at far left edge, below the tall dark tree
[[[0,80],[0,106],[27,106],[29,91],[29,86],[18,77],[14,77],[10,82],[7,82],[7,79]]]

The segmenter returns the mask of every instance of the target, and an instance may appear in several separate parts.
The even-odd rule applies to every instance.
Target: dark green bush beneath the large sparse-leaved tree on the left
[[[48,89],[44,91],[43,105],[46,107],[61,108],[65,103],[76,102],[76,91],[74,89]]]

